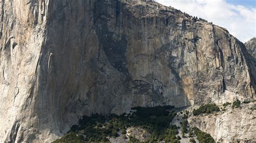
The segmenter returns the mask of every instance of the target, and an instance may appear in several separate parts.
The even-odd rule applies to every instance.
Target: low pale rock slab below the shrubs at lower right
[[[243,104],[242,108],[194,116],[188,119],[191,126],[211,134],[219,142],[255,142],[256,141],[256,103]]]

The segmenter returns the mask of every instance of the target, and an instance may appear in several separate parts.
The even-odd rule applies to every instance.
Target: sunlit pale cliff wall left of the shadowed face
[[[0,142],[33,139],[23,131],[35,131],[33,87],[46,39],[47,5],[47,0],[0,1]]]

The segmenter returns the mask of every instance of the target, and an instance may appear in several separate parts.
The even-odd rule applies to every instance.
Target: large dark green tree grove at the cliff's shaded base
[[[132,113],[123,115],[102,116],[99,114],[91,117],[84,116],[79,120],[79,125],[73,125],[68,134],[55,142],[107,142],[107,137],[119,137],[125,134],[129,127],[144,128],[150,135],[150,142],[166,141],[179,142],[178,127],[169,125],[176,116],[172,111],[174,106],[156,106],[153,108],[132,108]],[[125,138],[125,137],[123,137]],[[129,137],[131,141],[138,140]]]

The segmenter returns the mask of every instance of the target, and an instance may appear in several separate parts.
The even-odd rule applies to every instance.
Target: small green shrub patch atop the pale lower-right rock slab
[[[219,107],[215,104],[205,104],[201,105],[199,109],[193,110],[193,115],[197,116],[203,113],[212,113],[212,112],[218,112],[220,111]]]

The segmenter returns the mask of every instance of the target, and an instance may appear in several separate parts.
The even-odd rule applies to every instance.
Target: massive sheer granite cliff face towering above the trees
[[[254,98],[224,28],[156,2],[0,0],[0,142],[52,141],[83,115]]]

